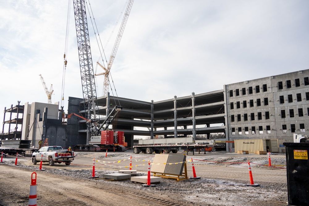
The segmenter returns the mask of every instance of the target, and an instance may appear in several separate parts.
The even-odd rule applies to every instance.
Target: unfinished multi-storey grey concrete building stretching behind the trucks
[[[134,137],[193,136],[210,139],[222,133],[235,139],[282,139],[293,142],[293,133],[309,135],[309,69],[224,85],[223,90],[176,97],[158,102],[107,96],[97,98],[100,121],[120,104],[116,131],[125,132],[127,147]],[[12,118],[12,113],[17,113]],[[83,99],[69,97],[67,114],[83,114]],[[64,118],[63,118],[64,117]],[[67,121],[58,103],[11,105],[4,110],[1,139],[40,139],[63,147],[87,143],[86,120],[72,116]],[[13,126],[11,126],[13,125]],[[226,143],[226,150],[234,145]]]

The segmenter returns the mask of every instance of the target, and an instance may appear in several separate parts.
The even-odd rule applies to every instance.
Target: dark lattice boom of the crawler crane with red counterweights
[[[92,67],[85,1],[74,0],[73,4],[78,44],[79,65],[83,87],[85,117],[88,120],[91,120],[87,123],[88,142],[90,140],[90,132],[98,132],[98,120],[96,118],[96,111],[98,111],[98,105],[96,104],[97,95],[95,90],[95,79]]]

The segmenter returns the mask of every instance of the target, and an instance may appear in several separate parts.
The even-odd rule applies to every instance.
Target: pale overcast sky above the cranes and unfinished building
[[[103,45],[125,3],[90,0]],[[70,11],[66,112],[69,96],[83,98],[73,3]],[[47,103],[40,74],[48,89],[53,84],[52,102],[61,101],[67,16],[68,1],[0,1],[0,110],[17,101]],[[103,70],[95,63],[99,46],[89,14],[87,21],[97,74]],[[308,57],[308,0],[135,0],[111,74],[119,97],[150,102],[309,69]],[[96,81],[101,96],[104,76]]]

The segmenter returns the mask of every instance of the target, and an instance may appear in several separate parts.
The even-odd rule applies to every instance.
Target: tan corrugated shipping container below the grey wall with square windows
[[[234,140],[235,152],[239,150],[247,150],[249,153],[254,151],[266,151],[265,139],[251,139],[251,140]]]

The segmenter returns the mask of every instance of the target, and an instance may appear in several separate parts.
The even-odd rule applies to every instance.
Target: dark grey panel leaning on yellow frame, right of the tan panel
[[[186,156],[181,154],[170,154],[168,156],[167,164],[164,170],[165,174],[176,174],[181,175],[184,170],[184,162],[186,161]],[[174,164],[169,164],[174,163]],[[178,164],[175,164],[178,163]]]

